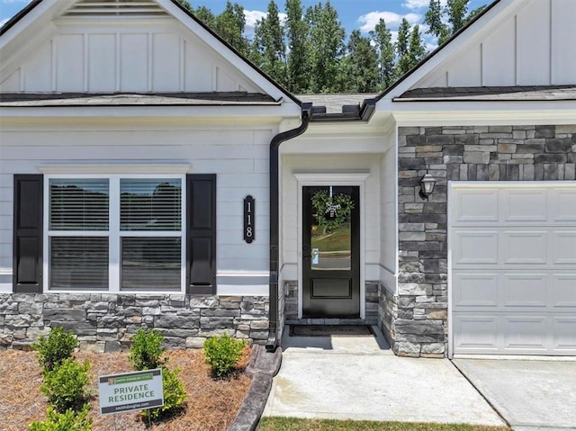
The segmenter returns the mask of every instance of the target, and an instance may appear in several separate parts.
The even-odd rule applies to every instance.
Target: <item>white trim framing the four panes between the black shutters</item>
[[[149,170],[148,170],[149,172]],[[109,214],[108,230],[50,230],[49,229],[49,180],[50,179],[100,179],[109,180]],[[130,178],[150,179],[179,179],[182,187],[182,220],[180,231],[131,231],[120,230],[120,180]],[[137,174],[51,174],[44,175],[44,197],[42,203],[43,232],[42,232],[42,278],[43,292],[47,293],[123,293],[123,294],[158,294],[158,293],[185,293],[186,292],[186,175],[155,173],[148,175]],[[84,290],[84,289],[50,289],[49,288],[49,238],[50,237],[106,237],[108,243],[108,289],[107,290]],[[121,250],[120,239],[122,237],[179,237],[181,238],[181,262],[180,262],[180,289],[179,290],[121,290],[120,267]]]

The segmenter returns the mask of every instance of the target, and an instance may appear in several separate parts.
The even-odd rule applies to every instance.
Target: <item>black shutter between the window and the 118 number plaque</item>
[[[216,293],[216,175],[186,175],[186,293]]]

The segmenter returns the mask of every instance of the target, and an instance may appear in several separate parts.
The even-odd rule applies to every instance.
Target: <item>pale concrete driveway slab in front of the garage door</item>
[[[455,359],[515,431],[576,430],[576,362]]]

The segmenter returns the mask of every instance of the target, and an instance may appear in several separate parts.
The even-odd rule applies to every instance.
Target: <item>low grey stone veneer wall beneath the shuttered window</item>
[[[169,347],[202,347],[224,332],[265,344],[268,297],[183,294],[0,294],[0,349],[25,347],[61,326],[81,349],[112,352],[130,346],[139,328],[155,328]]]

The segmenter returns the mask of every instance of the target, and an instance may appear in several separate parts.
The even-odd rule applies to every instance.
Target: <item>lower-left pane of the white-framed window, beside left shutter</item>
[[[108,289],[108,238],[50,238],[50,289]]]

